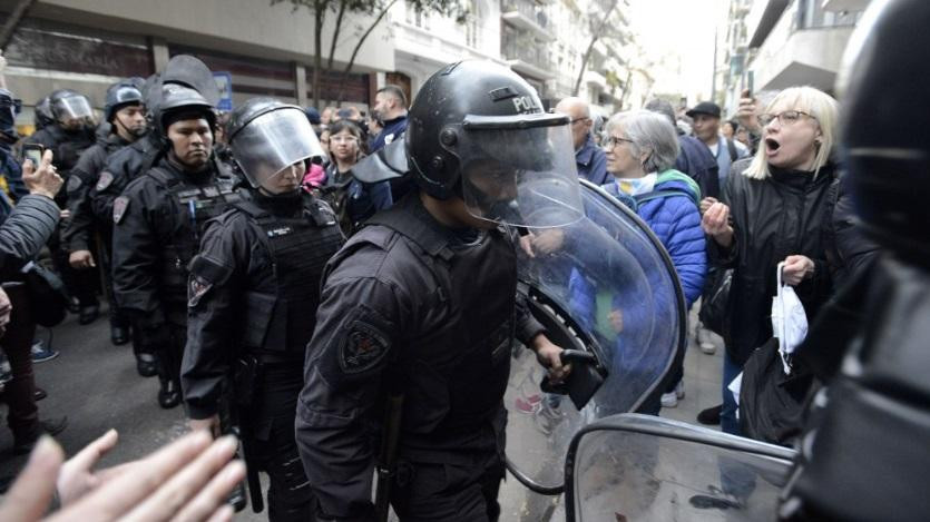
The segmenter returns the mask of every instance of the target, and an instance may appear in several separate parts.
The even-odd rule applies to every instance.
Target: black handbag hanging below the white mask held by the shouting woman
[[[772,337],[750,355],[740,385],[740,427],[743,436],[792,445],[801,434],[814,375],[797,357],[785,374],[779,339]]]

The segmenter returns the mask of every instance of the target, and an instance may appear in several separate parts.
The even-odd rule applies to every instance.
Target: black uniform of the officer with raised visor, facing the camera
[[[114,203],[114,293],[139,326],[146,348],[157,351],[163,383],[179,385],[187,267],[203,225],[241,199],[217,173],[214,161],[189,173],[161,159]]]

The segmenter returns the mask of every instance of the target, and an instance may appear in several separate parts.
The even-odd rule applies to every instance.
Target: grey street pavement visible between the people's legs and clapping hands
[[[48,331],[41,329],[47,336]],[[694,422],[702,408],[719,401],[721,346],[715,355],[705,355],[694,345],[685,357],[685,397],[675,408],[664,408],[663,416]],[[95,323],[80,326],[69,316],[53,331],[52,346],[60,355],[36,365],[36,382],[48,392],[39,403],[42,418],[68,416],[68,429],[57,440],[68,455],[109,429],[119,432],[117,447],[106,455],[101,466],[144,456],[186,432],[182,407],[161,410],[156,403],[158,380],[136,373],[129,345],[114,346],[109,339],[106,311]],[[516,414],[515,414],[516,415]],[[13,476],[27,456],[11,452],[12,435],[0,429],[0,477]],[[509,444],[520,444],[511,439]],[[561,498],[528,493],[508,475],[501,487],[501,521],[562,520]],[[237,521],[265,520],[248,509]]]

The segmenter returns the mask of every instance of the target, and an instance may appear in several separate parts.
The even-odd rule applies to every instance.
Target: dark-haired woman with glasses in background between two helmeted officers
[[[362,129],[351,120],[331,124],[330,165],[326,180],[320,188],[322,197],[333,207],[346,237],[359,229],[362,221],[378,210],[393,204],[388,181],[363,184],[352,175],[352,167],[362,158]]]

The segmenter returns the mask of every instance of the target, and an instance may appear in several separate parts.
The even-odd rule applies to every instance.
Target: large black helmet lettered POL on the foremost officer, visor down
[[[565,225],[581,216],[569,124],[544,112],[536,90],[511,70],[461,61],[430,77],[413,100],[409,169],[421,190],[459,196],[478,218]]]

